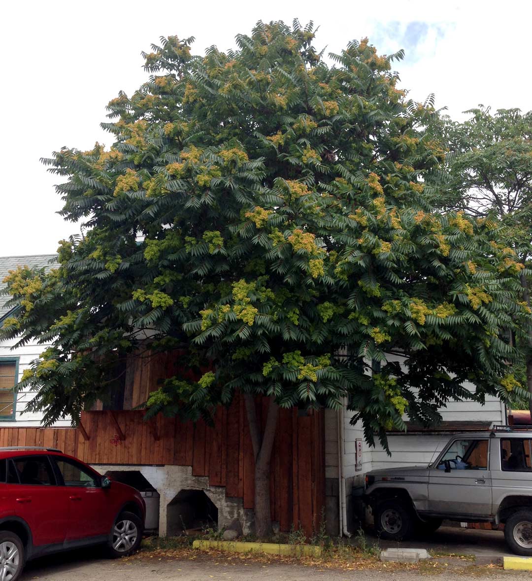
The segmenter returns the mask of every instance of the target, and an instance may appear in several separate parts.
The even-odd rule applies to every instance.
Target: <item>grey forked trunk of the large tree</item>
[[[272,533],[272,518],[269,501],[269,466],[274,449],[275,429],[277,427],[277,417],[279,406],[275,403],[274,397],[269,400],[268,417],[264,435],[261,433],[257,421],[257,411],[255,408],[255,398],[252,394],[244,395],[246,404],[247,423],[253,444],[253,455],[255,458],[255,532],[257,537],[264,539]]]

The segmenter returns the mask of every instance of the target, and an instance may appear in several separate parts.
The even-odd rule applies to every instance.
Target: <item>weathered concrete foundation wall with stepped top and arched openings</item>
[[[174,500],[181,490],[203,490],[210,500],[218,508],[218,528],[228,526],[233,519],[238,519],[242,524],[245,534],[253,532],[253,511],[243,507],[241,498],[225,496],[225,487],[209,486],[209,479],[202,476],[193,476],[190,466],[138,466],[138,465],[102,465],[94,464],[93,468],[100,474],[107,471],[139,471],[148,480],[150,485],[160,494],[159,505],[159,535],[167,536],[168,533],[179,530],[179,523],[172,522],[175,511],[168,510],[168,504]],[[170,515],[170,518],[168,517]],[[173,515],[173,517],[172,517]]]

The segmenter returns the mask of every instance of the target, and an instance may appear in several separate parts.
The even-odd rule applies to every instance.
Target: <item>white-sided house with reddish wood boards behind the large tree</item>
[[[0,259],[0,277],[17,264],[42,267],[51,259]],[[4,307],[0,320],[6,315]],[[0,386],[6,390],[0,393],[9,411],[2,418],[0,446],[58,447],[102,474],[142,488],[150,507],[149,528],[160,535],[206,523],[221,528],[235,518],[245,532],[253,529],[254,459],[242,397],[237,394],[229,408],[218,408],[213,425],[160,415],[145,422],[135,408],[161,380],[175,374],[180,354],[130,356],[111,402],[82,413],[77,428],[69,421],[39,428],[38,415],[20,415],[31,394],[19,393],[15,402],[9,388],[45,347],[27,345],[12,352],[0,343]],[[265,419],[267,403],[267,398],[256,399],[258,418]],[[365,472],[429,464],[453,433],[508,423],[504,404],[495,397],[484,406],[452,402],[441,410],[443,422],[436,429],[408,425],[406,433],[390,432],[389,457],[379,445],[368,447],[360,423],[350,424],[351,415],[345,408],[311,415],[296,408],[280,410],[270,477],[271,514],[279,530],[301,526],[310,536],[324,513],[329,534],[353,533],[354,498]]]

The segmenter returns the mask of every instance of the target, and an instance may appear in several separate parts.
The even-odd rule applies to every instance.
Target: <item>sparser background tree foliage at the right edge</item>
[[[532,112],[489,107],[470,109],[469,119],[457,122],[448,116],[435,117],[436,134],[450,153],[445,158],[445,174],[433,198],[441,210],[464,211],[497,228],[498,245],[508,258],[523,265],[519,276],[522,302],[532,307]],[[441,177],[444,177],[441,180]],[[513,258],[512,258],[513,254]],[[525,363],[516,377],[527,385],[526,399],[514,398],[518,405],[532,409],[532,334],[512,336]]]

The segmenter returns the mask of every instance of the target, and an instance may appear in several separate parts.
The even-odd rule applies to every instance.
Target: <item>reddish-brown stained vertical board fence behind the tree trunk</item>
[[[257,400],[263,428],[267,406],[267,398]],[[191,466],[194,476],[207,476],[211,486],[224,486],[227,496],[253,508],[254,458],[243,397],[218,408],[213,426],[161,415],[145,422],[141,411],[131,410],[88,411],[81,424],[0,428],[0,446],[57,447],[89,464]],[[269,486],[272,518],[283,531],[301,525],[311,535],[319,528],[325,505],[323,432],[322,412],[279,410]]]

